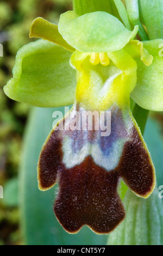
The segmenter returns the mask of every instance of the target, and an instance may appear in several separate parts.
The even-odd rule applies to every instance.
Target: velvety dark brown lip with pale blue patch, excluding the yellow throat
[[[74,104],[65,125],[71,124],[77,109],[80,107]],[[118,109],[114,107],[111,114],[120,133],[112,130],[101,139],[100,131],[87,131],[86,136],[85,131],[60,131],[58,124],[40,154],[39,187],[47,190],[59,182],[54,212],[69,233],[88,225],[98,234],[107,234],[121,223],[125,217],[117,193],[121,178],[144,198],[155,186],[153,164],[140,131],[129,113]]]

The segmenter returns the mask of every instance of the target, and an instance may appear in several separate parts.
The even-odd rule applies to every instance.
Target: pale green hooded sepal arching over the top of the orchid
[[[137,33],[129,31],[116,17],[104,11],[78,16],[74,11],[61,14],[59,32],[82,52],[113,52],[123,48]]]

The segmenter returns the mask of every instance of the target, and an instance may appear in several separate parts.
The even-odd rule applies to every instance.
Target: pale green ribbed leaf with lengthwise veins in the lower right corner
[[[148,199],[130,190],[124,197],[126,219],[109,235],[108,245],[162,245],[163,205],[155,189]]]

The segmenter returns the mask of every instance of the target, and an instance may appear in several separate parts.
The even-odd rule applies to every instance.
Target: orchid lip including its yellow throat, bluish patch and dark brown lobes
[[[143,198],[155,187],[151,156],[129,106],[136,63],[124,51],[108,53],[108,58],[106,66],[92,65],[90,54],[73,53],[71,64],[78,71],[76,101],[48,136],[39,158],[39,187],[47,190],[59,182],[54,212],[69,233],[87,225],[107,234],[123,221],[125,210],[117,193],[121,179]],[[102,137],[100,127],[82,130],[82,113],[90,110],[111,112],[110,136]],[[75,122],[79,130],[70,129]]]

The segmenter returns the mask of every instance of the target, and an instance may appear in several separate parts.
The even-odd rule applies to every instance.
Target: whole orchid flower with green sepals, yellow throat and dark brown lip
[[[139,197],[147,198],[154,190],[155,169],[130,111],[130,95],[140,106],[162,110],[157,93],[148,101],[148,81],[145,89],[139,88],[150,67],[155,69],[161,39],[152,46],[133,40],[138,28],[130,31],[104,11],[80,16],[68,11],[60,16],[59,26],[39,17],[30,37],[42,39],[18,51],[14,77],[4,87],[11,99],[34,106],[73,103],[53,127],[38,163],[41,190],[59,182],[54,212],[69,233],[87,225],[107,234],[123,221],[125,210],[117,192],[121,179]],[[91,130],[83,112],[92,113]],[[104,124],[111,113],[108,136],[102,136],[106,126],[101,127],[101,113]]]

